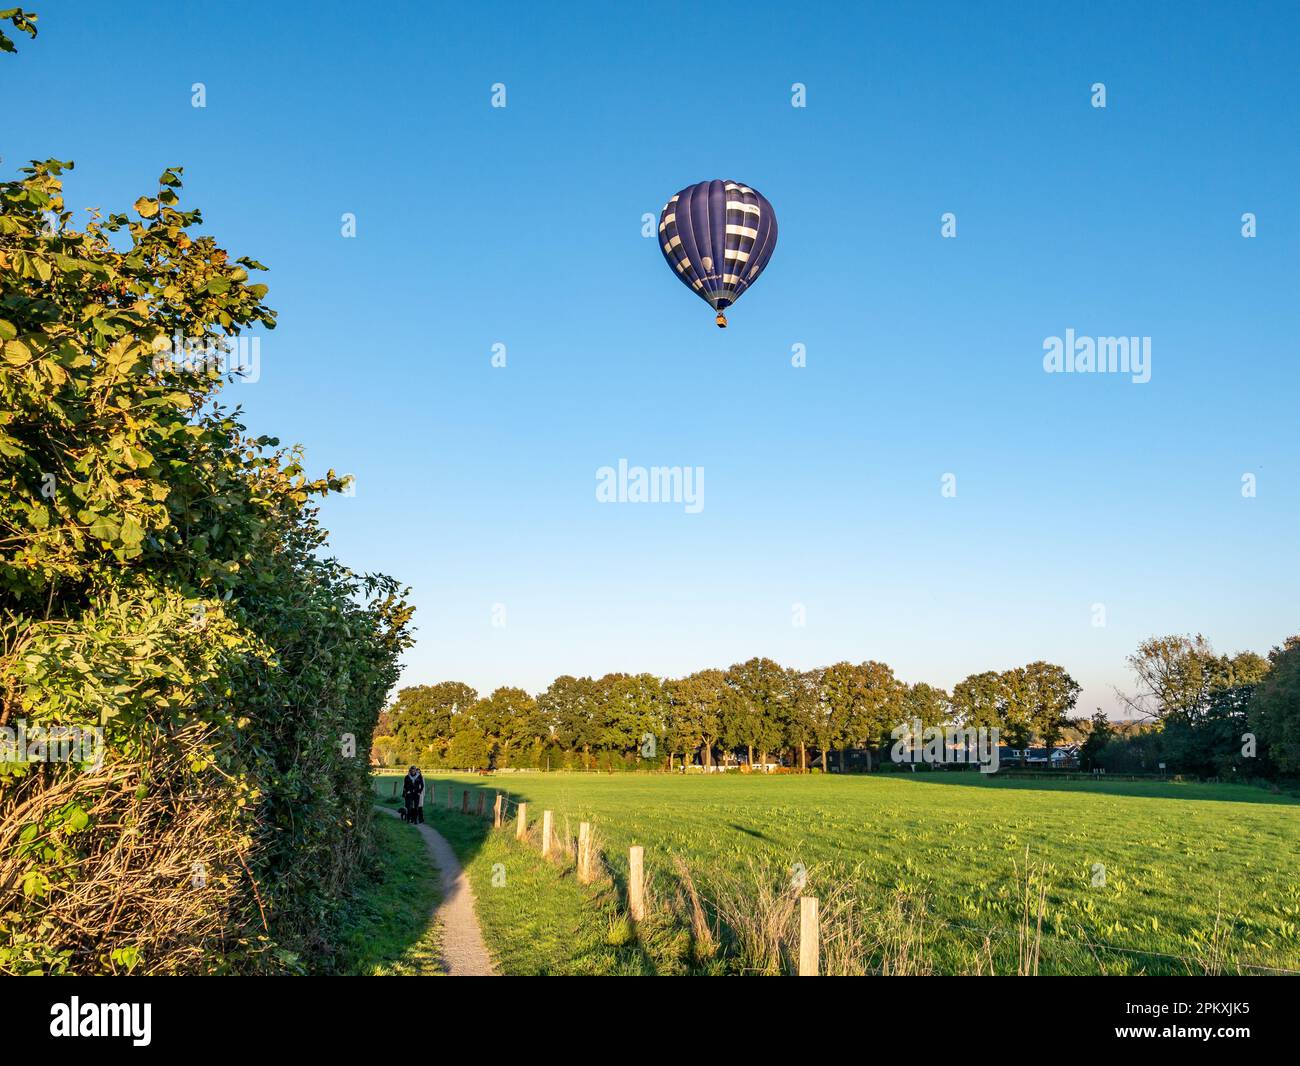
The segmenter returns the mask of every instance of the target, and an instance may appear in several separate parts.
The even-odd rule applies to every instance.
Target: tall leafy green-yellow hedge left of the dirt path
[[[328,966],[411,608],[324,554],[343,482],[217,403],[261,264],[178,168],[78,228],[68,166],[0,183],[0,727],[104,749],[0,763],[0,971]]]

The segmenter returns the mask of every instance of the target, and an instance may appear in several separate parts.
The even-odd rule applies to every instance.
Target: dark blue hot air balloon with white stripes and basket
[[[718,312],[741,298],[776,248],[776,212],[740,182],[699,182],[681,190],[659,214],[659,247],[673,273]]]

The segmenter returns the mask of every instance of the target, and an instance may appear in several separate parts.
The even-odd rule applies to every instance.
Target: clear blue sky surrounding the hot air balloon
[[[31,5],[3,172],[125,208],[181,164],[272,268],[230,399],[356,474],[325,520],[413,588],[407,684],[1043,658],[1091,712],[1144,636],[1300,628],[1294,4]],[[780,220],[725,332],[641,235],[706,178]],[[1150,382],[1044,373],[1066,329]],[[598,504],[620,458],[705,510]]]

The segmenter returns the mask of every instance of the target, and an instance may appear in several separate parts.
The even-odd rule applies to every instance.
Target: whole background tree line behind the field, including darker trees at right
[[[376,755],[455,768],[655,768],[779,759],[792,768],[876,768],[890,732],[997,728],[1011,749],[1080,745],[1086,770],[1269,776],[1300,771],[1300,638],[1270,655],[1218,655],[1204,637],[1153,637],[1128,658],[1130,723],[1072,715],[1079,685],[1056,663],[972,673],[952,692],[909,684],[880,662],[814,670],[766,658],[685,677],[556,677],[536,696],[460,681],[402,689],[384,712]],[[1245,738],[1252,733],[1254,741]],[[1254,750],[1247,749],[1254,745]],[[1161,763],[1165,763],[1161,767]]]

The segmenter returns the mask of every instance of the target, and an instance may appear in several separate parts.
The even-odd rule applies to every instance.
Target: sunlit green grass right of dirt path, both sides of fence
[[[807,894],[852,898],[866,915],[905,901],[922,915],[924,968],[1014,972],[1026,884],[1035,900],[1037,888],[1026,849],[1045,888],[1041,972],[1300,970],[1300,805],[1258,789],[940,774],[426,780],[506,972],[728,968],[692,957],[680,907],[673,927],[675,855],[706,904],[741,883],[780,890],[802,863]],[[459,802],[446,811],[450,785],[458,800],[463,788],[504,790],[529,803],[530,822],[554,810],[562,835],[593,822],[610,879],[581,887],[563,863],[460,815]],[[376,779],[381,796],[390,788]],[[645,846],[664,911],[634,937],[619,894],[630,844]],[[494,867],[504,885],[493,887]],[[863,950],[879,954],[894,933],[866,937]]]

